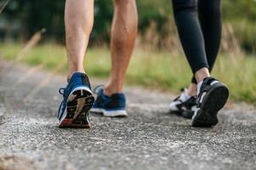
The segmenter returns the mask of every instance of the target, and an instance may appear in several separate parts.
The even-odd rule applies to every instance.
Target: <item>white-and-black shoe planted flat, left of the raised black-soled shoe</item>
[[[196,109],[196,96],[189,96],[187,88],[169,105],[170,112],[191,119]]]

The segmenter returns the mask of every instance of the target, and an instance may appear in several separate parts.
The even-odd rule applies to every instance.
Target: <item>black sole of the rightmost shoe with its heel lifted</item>
[[[223,84],[213,85],[204,96],[201,108],[195,111],[192,117],[192,127],[212,127],[218,124],[218,111],[226,104],[229,98],[229,89]]]

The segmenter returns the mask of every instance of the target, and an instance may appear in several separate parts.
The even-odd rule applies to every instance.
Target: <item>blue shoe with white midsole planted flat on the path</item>
[[[97,94],[91,112],[101,113],[103,116],[127,116],[125,111],[125,94],[112,94],[107,96],[103,92],[103,86],[95,88],[94,93]]]

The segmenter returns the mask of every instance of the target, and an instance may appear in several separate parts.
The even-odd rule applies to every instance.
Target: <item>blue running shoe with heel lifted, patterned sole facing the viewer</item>
[[[63,95],[58,111],[59,127],[89,128],[89,110],[94,97],[90,91],[89,78],[80,72],[73,74],[66,88],[60,88]]]

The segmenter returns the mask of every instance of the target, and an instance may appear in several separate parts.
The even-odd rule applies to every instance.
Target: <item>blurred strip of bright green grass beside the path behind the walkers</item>
[[[15,59],[19,44],[0,44],[0,57]],[[67,53],[64,47],[55,44],[39,45],[29,50],[21,60],[28,65],[44,64],[54,70],[65,59],[66,65],[60,72],[67,72]],[[84,62],[90,77],[108,77],[110,53],[106,48],[89,48]],[[256,105],[256,56],[218,57],[212,75],[225,82],[230,88],[230,98]],[[184,56],[168,52],[148,52],[135,50],[132,55],[125,83],[139,84],[148,88],[160,88],[177,92],[186,87],[191,79],[191,71]]]

